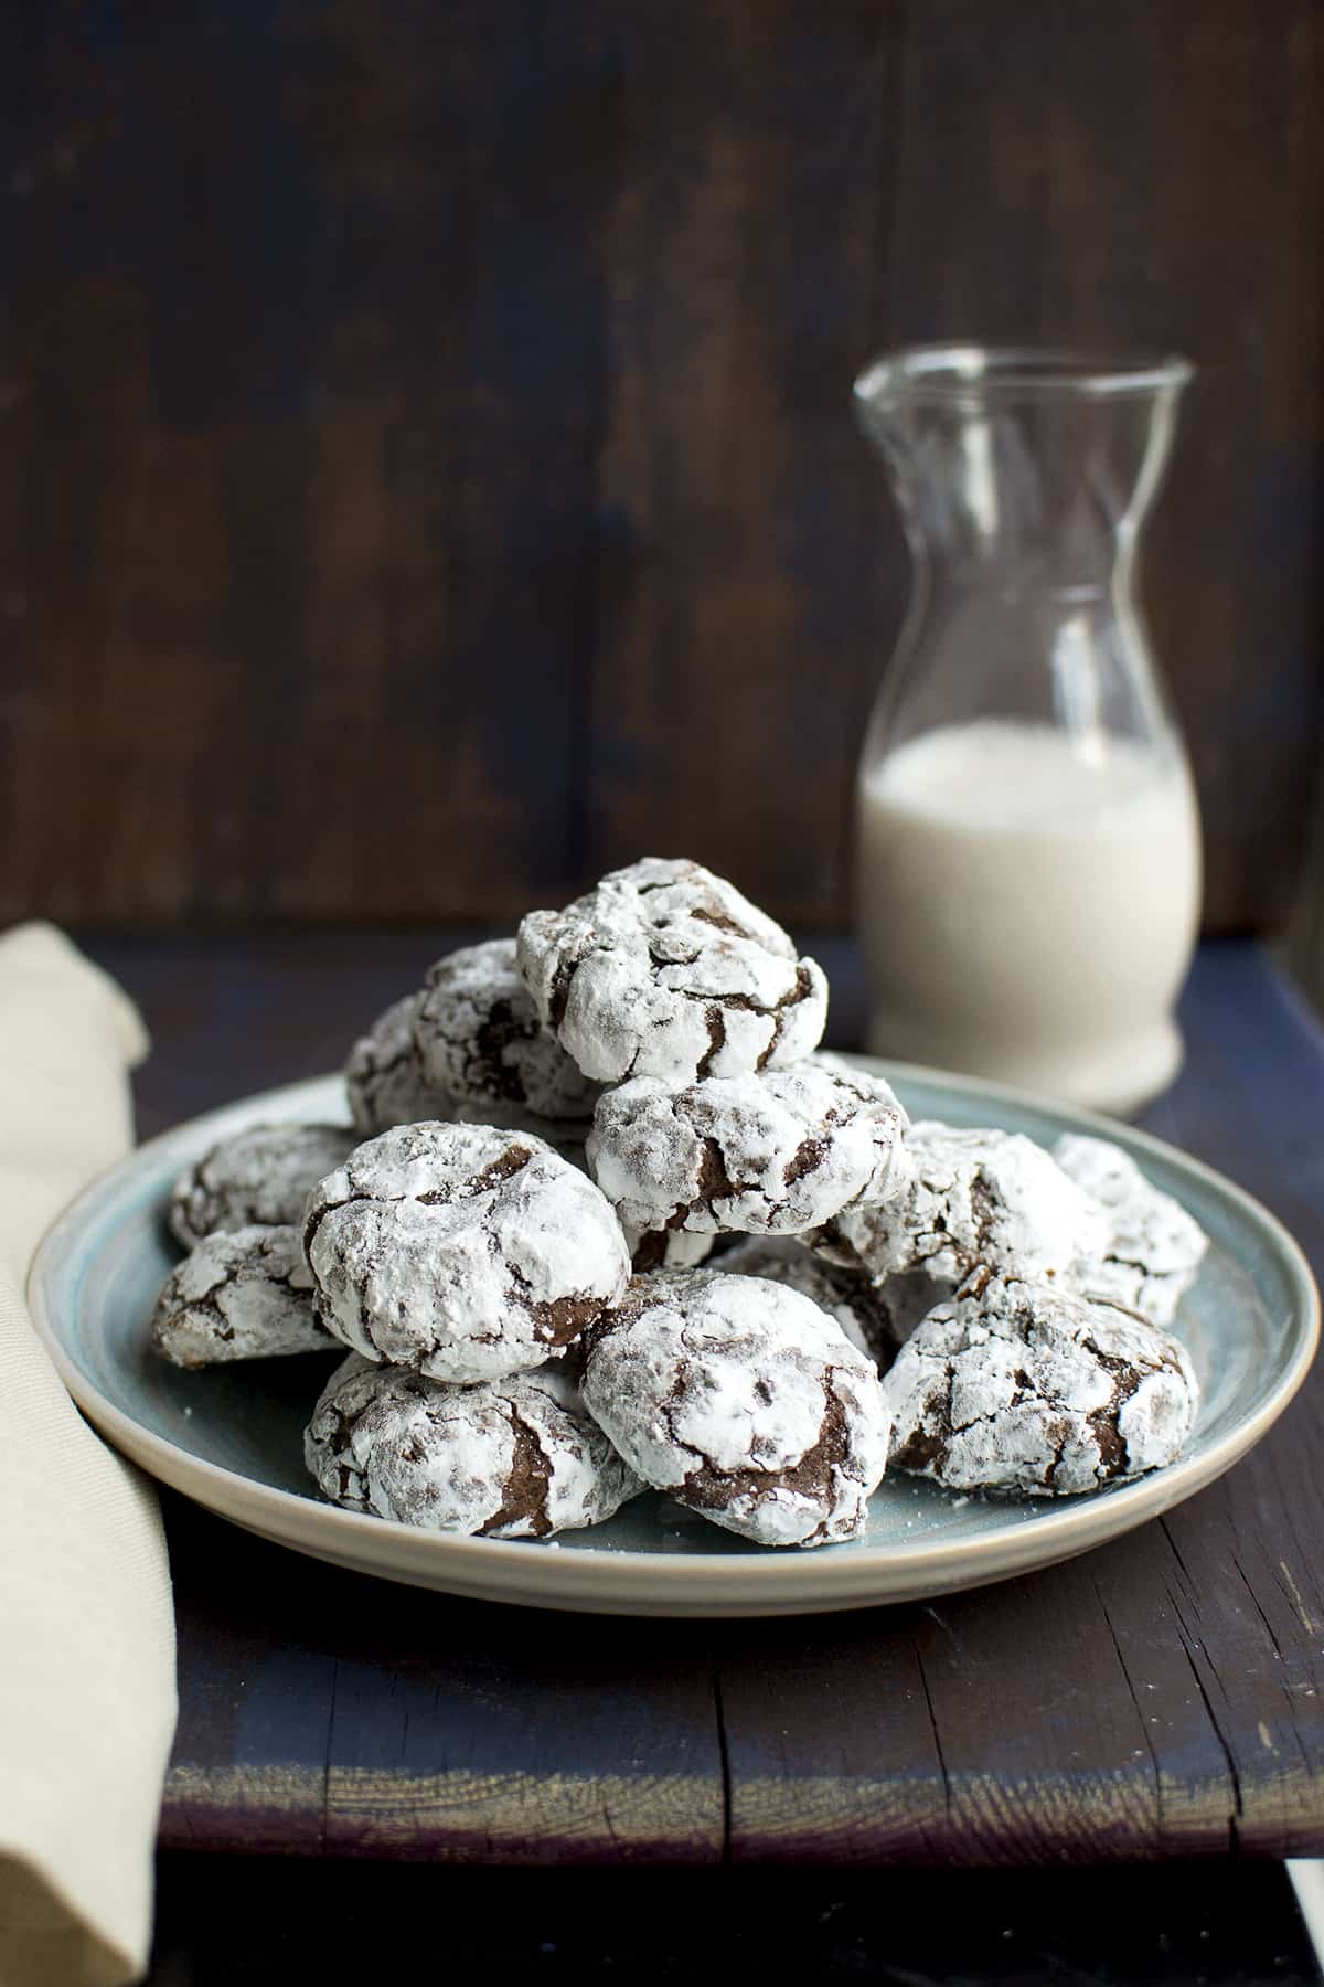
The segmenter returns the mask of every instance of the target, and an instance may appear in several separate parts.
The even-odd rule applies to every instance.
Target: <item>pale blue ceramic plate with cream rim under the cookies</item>
[[[967,1077],[869,1063],[913,1117],[1000,1125],[1050,1145],[1092,1131],[1125,1146],[1213,1238],[1177,1329],[1201,1377],[1195,1435],[1177,1462],[1084,1498],[985,1502],[905,1476],[873,1496],[865,1538],[772,1552],[661,1496],[609,1524],[522,1542],[447,1538],[324,1504],[302,1429],[330,1355],[185,1373],[153,1359],[147,1317],[173,1260],[163,1208],[177,1172],[242,1125],[345,1117],[339,1077],[212,1111],[141,1146],[56,1222],[30,1299],[69,1393],[145,1470],[222,1518],[320,1560],[413,1586],[594,1613],[818,1613],[1006,1580],[1129,1532],[1231,1468],[1282,1413],[1318,1339],[1318,1296],[1284,1228],[1241,1188],[1124,1125],[1058,1111]]]

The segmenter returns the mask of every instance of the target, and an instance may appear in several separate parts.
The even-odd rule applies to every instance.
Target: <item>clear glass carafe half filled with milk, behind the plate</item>
[[[856,382],[913,556],[860,765],[877,1053],[1118,1113],[1181,1063],[1199,817],[1135,550],[1189,378],[949,346]]]

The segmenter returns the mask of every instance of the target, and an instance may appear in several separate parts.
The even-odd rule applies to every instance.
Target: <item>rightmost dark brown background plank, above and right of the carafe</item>
[[[907,16],[893,334],[1201,368],[1145,600],[1195,761],[1213,932],[1286,916],[1318,773],[1322,81],[1310,0]]]

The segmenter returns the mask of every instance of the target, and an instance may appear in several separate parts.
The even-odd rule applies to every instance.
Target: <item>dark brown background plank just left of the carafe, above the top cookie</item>
[[[590,868],[695,854],[836,920],[907,586],[850,407],[895,288],[901,8],[641,8],[629,62]]]

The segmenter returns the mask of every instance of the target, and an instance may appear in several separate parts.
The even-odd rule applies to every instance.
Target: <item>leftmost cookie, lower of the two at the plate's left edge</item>
[[[333,1347],[298,1228],[204,1236],[171,1270],[151,1319],[151,1349],[183,1367]]]

